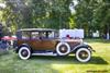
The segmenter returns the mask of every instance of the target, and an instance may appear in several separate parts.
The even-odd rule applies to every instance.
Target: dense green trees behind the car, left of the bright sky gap
[[[19,28],[69,28],[74,26],[69,4],[73,0],[4,0],[2,21]]]

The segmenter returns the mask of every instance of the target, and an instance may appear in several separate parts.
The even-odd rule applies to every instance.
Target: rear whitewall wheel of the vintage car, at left
[[[19,50],[19,57],[22,60],[28,60],[31,57],[31,50],[28,47],[21,47]]]

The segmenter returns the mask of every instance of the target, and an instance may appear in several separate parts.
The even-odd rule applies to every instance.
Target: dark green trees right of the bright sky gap
[[[103,35],[110,32],[110,1],[109,0],[78,0],[76,5],[77,27],[88,31],[100,31]]]

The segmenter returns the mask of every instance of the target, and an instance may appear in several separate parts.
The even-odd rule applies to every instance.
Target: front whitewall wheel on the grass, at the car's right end
[[[91,59],[91,52],[87,48],[79,48],[76,51],[76,59],[80,62],[88,62]]]

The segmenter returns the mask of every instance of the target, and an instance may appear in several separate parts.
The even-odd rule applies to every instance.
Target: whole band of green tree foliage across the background
[[[109,0],[0,0],[7,8],[1,10],[0,20],[6,28],[15,32],[20,28],[84,28],[88,37],[99,31],[110,32]],[[72,13],[70,5],[75,13]],[[6,29],[7,31],[7,29]]]

